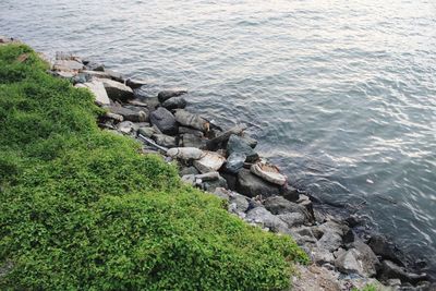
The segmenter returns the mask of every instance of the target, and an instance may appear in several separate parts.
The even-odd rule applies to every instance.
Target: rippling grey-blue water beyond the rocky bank
[[[1,0],[0,34],[187,88],[218,123],[251,124],[296,185],[436,264],[435,15],[425,0]]]

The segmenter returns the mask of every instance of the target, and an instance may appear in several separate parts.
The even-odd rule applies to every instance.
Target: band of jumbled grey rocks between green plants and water
[[[1,38],[0,43],[12,41]],[[46,58],[46,60],[48,60]],[[186,109],[186,90],[146,96],[146,82],[126,78],[104,64],[59,52],[50,73],[87,88],[107,110],[101,129],[143,143],[144,154],[177,162],[183,182],[227,201],[228,211],[266,231],[291,235],[313,265],[298,266],[294,290],[352,290],[375,284],[380,290],[436,290],[385,237],[362,228],[353,215],[325,207],[292,186],[280,170],[256,151],[246,126],[221,129]],[[416,263],[416,264],[415,264]]]

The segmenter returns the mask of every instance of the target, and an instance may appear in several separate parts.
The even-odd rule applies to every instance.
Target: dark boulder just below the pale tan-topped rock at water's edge
[[[249,197],[279,195],[279,187],[256,177],[250,170],[241,169],[238,173],[237,190]]]

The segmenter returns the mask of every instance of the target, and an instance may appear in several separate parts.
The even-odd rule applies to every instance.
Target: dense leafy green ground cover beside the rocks
[[[92,95],[46,69],[31,48],[0,46],[0,290],[289,286],[291,263],[307,262],[290,238],[246,226],[100,131]]]

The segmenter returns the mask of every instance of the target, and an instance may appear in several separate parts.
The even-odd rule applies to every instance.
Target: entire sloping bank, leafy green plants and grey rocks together
[[[0,38],[1,290],[434,290],[189,92]]]

